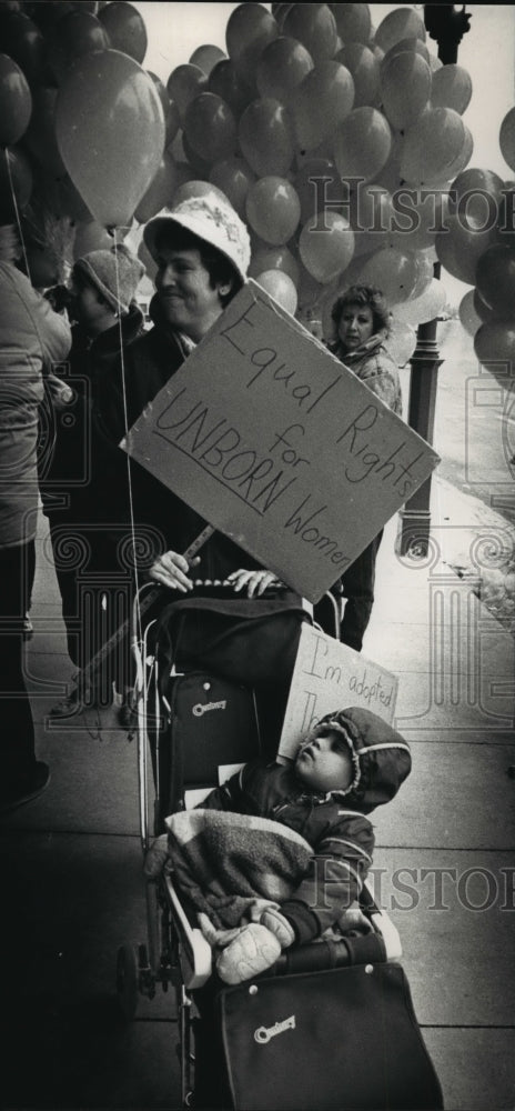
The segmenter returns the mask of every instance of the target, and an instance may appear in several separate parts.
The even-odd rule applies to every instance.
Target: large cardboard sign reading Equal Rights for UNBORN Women
[[[122,446],[310,601],[438,462],[253,281]]]

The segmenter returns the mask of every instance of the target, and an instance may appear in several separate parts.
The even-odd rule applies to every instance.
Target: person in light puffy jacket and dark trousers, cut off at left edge
[[[37,761],[23,678],[23,620],[34,575],[38,412],[43,371],[67,358],[71,331],[17,267],[10,226],[0,227],[0,809],[36,798],[49,781]]]

